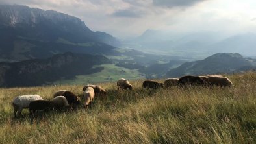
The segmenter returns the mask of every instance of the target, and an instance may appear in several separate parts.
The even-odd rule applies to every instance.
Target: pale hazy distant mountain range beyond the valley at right
[[[194,60],[214,53],[256,56],[255,45],[255,33],[229,35],[221,32],[174,33],[158,30],[146,30],[141,36],[123,43],[123,47]]]

